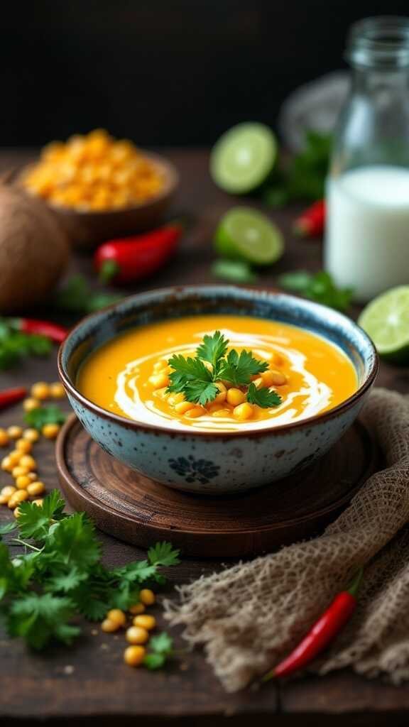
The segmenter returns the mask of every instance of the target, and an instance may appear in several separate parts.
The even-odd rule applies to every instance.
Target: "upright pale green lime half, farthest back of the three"
[[[274,166],[277,143],[264,124],[237,124],[215,143],[210,174],[226,192],[245,194],[261,185]]]

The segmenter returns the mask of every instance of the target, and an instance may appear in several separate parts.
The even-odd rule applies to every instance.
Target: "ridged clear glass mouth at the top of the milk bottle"
[[[409,66],[409,17],[380,15],[352,25],[346,43],[346,60],[366,68]]]

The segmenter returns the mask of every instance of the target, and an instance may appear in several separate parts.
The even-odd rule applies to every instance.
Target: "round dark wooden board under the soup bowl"
[[[134,545],[170,540],[185,556],[265,553],[316,534],[348,504],[376,467],[376,447],[360,422],[325,457],[291,477],[235,496],[173,490],[110,457],[75,417],[57,442],[68,502],[98,527]]]

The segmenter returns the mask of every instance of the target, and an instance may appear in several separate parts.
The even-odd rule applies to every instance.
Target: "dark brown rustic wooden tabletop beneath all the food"
[[[174,204],[175,214],[192,216],[192,225],[175,260],[146,284],[135,285],[129,292],[167,284],[211,281],[212,233],[221,214],[236,200],[215,188],[207,174],[204,150],[167,150],[180,170],[180,193]],[[30,150],[9,150],[0,154],[0,172],[33,157]],[[274,276],[289,268],[320,266],[321,245],[300,241],[291,234],[291,221],[297,209],[274,213],[287,241],[285,257],[274,270],[263,274],[261,284],[274,285]],[[90,257],[76,256],[70,273],[80,271],[93,283]],[[35,274],[35,271],[33,271]],[[0,271],[1,284],[1,271]],[[51,310],[48,311],[52,317]],[[57,378],[55,356],[32,359],[14,371],[2,373],[0,387]],[[409,391],[409,370],[381,366],[378,384]],[[6,411],[0,426],[21,419],[21,407]],[[57,486],[53,447],[39,445],[41,478],[49,488]],[[6,475],[1,475],[3,483]],[[10,517],[1,508],[0,520]],[[135,547],[124,545],[101,534],[107,563],[125,563],[143,556]],[[172,586],[210,573],[218,563],[183,558],[170,572]],[[156,615],[161,622],[160,608]],[[1,724],[23,725],[33,720],[47,724],[92,722],[124,725],[143,718],[143,724],[172,723],[196,727],[208,723],[376,726],[393,722],[409,723],[409,686],[394,688],[381,681],[367,681],[352,672],[324,678],[303,678],[284,686],[270,684],[258,691],[225,694],[200,652],[188,654],[162,672],[131,670],[122,662],[123,636],[104,635],[92,624],[84,624],[84,634],[72,648],[52,648],[47,654],[32,655],[18,640],[0,636],[0,718]],[[183,642],[180,640],[180,645]]]

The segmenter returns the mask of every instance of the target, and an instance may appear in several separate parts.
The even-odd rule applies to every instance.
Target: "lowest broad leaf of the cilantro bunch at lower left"
[[[35,649],[44,648],[53,638],[69,643],[79,633],[76,627],[63,628],[73,615],[74,604],[69,598],[29,593],[12,602],[7,630],[10,636],[23,636]]]

